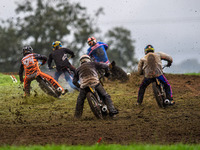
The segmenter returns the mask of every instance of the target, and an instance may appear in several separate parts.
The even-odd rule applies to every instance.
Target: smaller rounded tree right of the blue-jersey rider
[[[131,39],[131,32],[123,27],[115,27],[109,30],[107,37],[109,48],[107,50],[110,60],[115,60],[117,65],[132,69],[137,63],[135,56],[134,40]]]

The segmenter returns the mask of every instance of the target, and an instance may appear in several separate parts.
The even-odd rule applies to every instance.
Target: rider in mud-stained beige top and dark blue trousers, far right
[[[167,61],[168,63],[166,66],[170,67],[173,62],[172,57],[163,52],[154,53],[154,48],[152,45],[147,45],[144,51],[145,56],[141,58],[138,63],[138,72],[140,75],[144,75],[144,79],[139,87],[137,105],[142,104],[145,90],[150,83],[155,81],[155,78],[164,84],[167,97],[164,102],[169,105],[175,104],[173,101],[171,86],[163,74],[161,61]]]

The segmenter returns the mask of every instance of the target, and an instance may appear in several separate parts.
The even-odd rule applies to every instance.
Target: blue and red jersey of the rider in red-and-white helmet
[[[108,45],[103,42],[97,42],[87,50],[87,55],[94,58],[96,62],[110,64],[106,50]]]

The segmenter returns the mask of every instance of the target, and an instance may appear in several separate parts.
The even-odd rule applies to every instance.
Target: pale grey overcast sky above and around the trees
[[[15,16],[15,0],[1,0],[0,18]],[[49,0],[53,2],[53,0]],[[64,1],[64,0],[63,0]],[[136,41],[136,56],[152,44],[156,51],[172,55],[174,63],[195,58],[200,63],[200,0],[71,0],[93,13],[99,7],[104,15],[99,27],[107,31],[122,26]]]

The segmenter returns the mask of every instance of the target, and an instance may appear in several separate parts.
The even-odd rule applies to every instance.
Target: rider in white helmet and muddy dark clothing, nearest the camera
[[[91,58],[88,55],[82,55],[80,57],[80,67],[77,68],[76,74],[73,79],[74,85],[80,87],[80,93],[77,98],[75,118],[80,118],[83,113],[84,100],[86,98],[88,86],[95,87],[97,92],[103,97],[105,104],[108,107],[109,115],[113,117],[118,114],[118,111],[113,106],[110,95],[105,91],[103,86],[100,84],[97,70],[105,69],[108,71],[108,65],[104,63],[91,62]],[[80,81],[80,84],[78,83]]]

